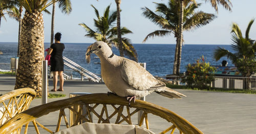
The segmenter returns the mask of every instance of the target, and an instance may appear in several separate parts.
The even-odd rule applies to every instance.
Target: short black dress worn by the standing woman
[[[62,52],[65,49],[65,45],[63,43],[53,43],[51,45],[52,53],[51,53],[51,71],[63,71],[64,63],[62,58]]]

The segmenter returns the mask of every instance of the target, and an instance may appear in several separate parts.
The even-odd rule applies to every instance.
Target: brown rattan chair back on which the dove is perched
[[[44,126],[37,121],[39,117],[48,115],[49,113],[55,112],[56,114],[56,111],[59,111],[59,118],[58,121],[56,121],[55,131],[47,128],[52,125]],[[69,123],[68,118],[66,117],[66,113],[68,111],[73,113],[73,116],[75,117],[72,124]],[[167,121],[167,123],[163,122],[159,124],[167,126],[167,128],[163,128],[160,133],[174,133],[174,131],[189,134],[203,133],[181,116],[165,108],[162,108],[161,106],[142,100],[136,100],[135,103],[132,102],[129,106],[126,98],[119,97],[113,94],[103,93],[81,95],[35,106],[34,108],[17,114],[15,117],[2,125],[0,127],[0,133],[14,131],[19,133],[23,125],[26,125],[24,133],[27,133],[29,122],[33,123],[37,133],[39,133],[39,130],[43,130],[47,133],[54,133],[59,131],[60,126],[63,127],[63,125],[60,125],[62,118],[65,120],[64,126],[67,128],[78,125],[81,122],[135,124],[134,119],[137,118],[134,115],[137,115],[135,113],[138,113],[139,111],[143,111],[143,114],[138,125],[141,126],[141,124],[143,123],[143,119],[145,119],[145,125],[147,129],[149,129],[150,124],[148,122],[150,120],[150,117],[157,116],[156,118],[158,119],[155,120],[154,118],[155,121],[159,121],[161,120],[161,118],[163,118],[163,121],[164,119],[165,122]],[[38,129],[38,126],[40,126],[41,128]]]

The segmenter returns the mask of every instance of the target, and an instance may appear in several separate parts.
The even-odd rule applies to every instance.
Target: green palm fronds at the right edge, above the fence
[[[218,47],[215,49],[214,58],[216,61],[219,61],[222,57],[227,57],[232,61],[234,65],[239,68],[239,63],[241,60],[256,60],[256,42],[249,38],[249,32],[254,19],[250,20],[246,32],[245,37],[243,37],[242,32],[238,26],[238,24],[232,24],[232,43],[231,47],[234,52],[230,52],[225,48]],[[242,65],[247,66],[247,65]],[[249,77],[252,74],[252,71],[241,72],[243,76]]]

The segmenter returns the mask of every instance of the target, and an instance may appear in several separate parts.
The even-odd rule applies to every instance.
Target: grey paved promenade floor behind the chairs
[[[0,74],[0,94],[13,90],[14,85],[14,76]],[[49,89],[52,88],[52,79],[50,79]],[[66,94],[64,98],[68,98],[69,94],[74,92],[108,92],[104,84],[81,82],[79,80],[65,81],[64,90],[64,92],[51,93]],[[187,97],[183,97],[183,99],[168,99],[153,93],[146,97],[146,101],[175,112],[204,133],[256,133],[256,95],[181,89],[176,91],[187,95]],[[64,98],[49,99],[49,102]],[[32,108],[40,104],[41,99],[36,98],[30,106]],[[46,117],[44,122],[48,123],[48,126],[54,126],[56,123],[52,123],[52,118],[55,117],[58,117],[58,112],[51,117]],[[153,120],[153,123],[152,121],[150,122],[151,130],[158,132],[162,128],[162,124],[156,123],[157,121],[154,120],[154,117],[151,120]],[[30,127],[32,128],[32,125]]]

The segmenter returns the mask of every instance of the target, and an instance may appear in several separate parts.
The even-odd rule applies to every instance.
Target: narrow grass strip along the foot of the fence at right
[[[201,91],[211,91],[211,92],[227,92],[227,93],[244,93],[244,94],[256,94],[256,90],[247,90],[247,89],[224,89],[224,88],[209,88],[209,89],[198,89],[198,88],[189,88],[184,85],[166,85],[168,88],[172,89],[187,89],[187,90],[201,90]]]

